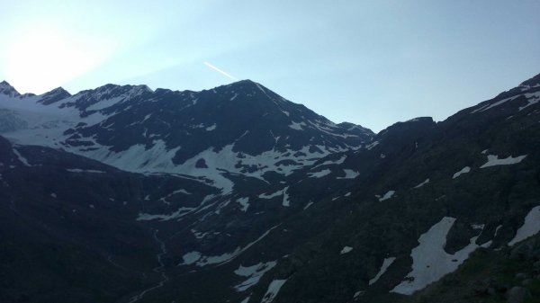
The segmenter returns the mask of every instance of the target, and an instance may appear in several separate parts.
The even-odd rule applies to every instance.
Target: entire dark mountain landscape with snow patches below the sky
[[[0,84],[1,302],[538,302],[540,75],[378,134],[255,82]]]

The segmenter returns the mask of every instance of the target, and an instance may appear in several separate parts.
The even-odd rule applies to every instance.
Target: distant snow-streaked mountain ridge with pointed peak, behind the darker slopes
[[[225,190],[232,185],[222,174],[288,175],[374,136],[250,80],[201,92],[108,84],[71,95],[58,87],[4,96],[0,109],[0,133],[14,142],[63,148],[127,171],[203,176]]]

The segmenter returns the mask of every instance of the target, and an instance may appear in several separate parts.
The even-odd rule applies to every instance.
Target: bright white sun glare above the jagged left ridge
[[[5,74],[21,93],[42,94],[63,85],[97,66],[106,55],[93,41],[52,29],[34,28],[8,45]]]

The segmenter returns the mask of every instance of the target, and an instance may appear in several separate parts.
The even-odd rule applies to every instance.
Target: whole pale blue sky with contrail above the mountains
[[[444,120],[540,73],[540,1],[5,1],[21,93],[251,79],[335,122]]]

